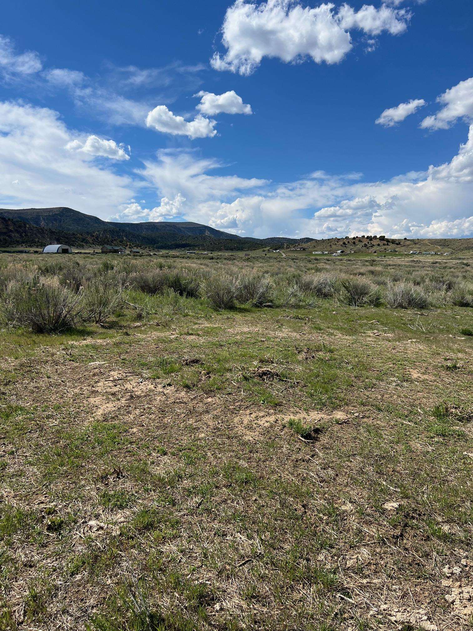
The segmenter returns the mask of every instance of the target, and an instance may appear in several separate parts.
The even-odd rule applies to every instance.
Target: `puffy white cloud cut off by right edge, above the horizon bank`
[[[448,129],[459,118],[472,121],[473,77],[445,91],[437,98],[437,102],[443,105],[442,109],[421,122],[423,129]]]

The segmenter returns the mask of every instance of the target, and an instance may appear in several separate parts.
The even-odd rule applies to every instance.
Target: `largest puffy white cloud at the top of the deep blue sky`
[[[410,17],[406,9],[385,4],[380,8],[365,5],[359,11],[343,4],[336,13],[332,3],[309,8],[295,0],[267,0],[261,4],[236,0],[227,9],[221,28],[225,55],[216,52],[211,65],[216,70],[247,75],[255,71],[263,57],[276,57],[286,63],[310,57],[318,64],[336,64],[353,46],[349,30],[399,35],[406,30]]]

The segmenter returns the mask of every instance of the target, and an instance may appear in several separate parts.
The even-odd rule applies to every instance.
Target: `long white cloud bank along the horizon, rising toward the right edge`
[[[473,125],[450,162],[386,182],[316,172],[275,185],[216,174],[223,166],[188,151],[161,151],[140,175],[161,196],[185,197],[180,216],[240,235],[473,235]]]

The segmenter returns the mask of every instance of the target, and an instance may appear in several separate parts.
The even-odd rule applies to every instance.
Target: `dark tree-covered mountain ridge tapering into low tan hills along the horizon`
[[[44,247],[63,243],[72,247],[149,247],[158,249],[206,249],[207,251],[279,249],[303,246],[307,251],[409,252],[411,250],[471,251],[473,239],[394,239],[390,237],[240,237],[194,221],[121,223],[103,221],[67,206],[54,208],[0,209],[0,247]]]

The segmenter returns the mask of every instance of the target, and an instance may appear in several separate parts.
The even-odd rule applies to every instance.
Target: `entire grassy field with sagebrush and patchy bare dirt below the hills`
[[[472,269],[1,256],[0,630],[471,628]]]

